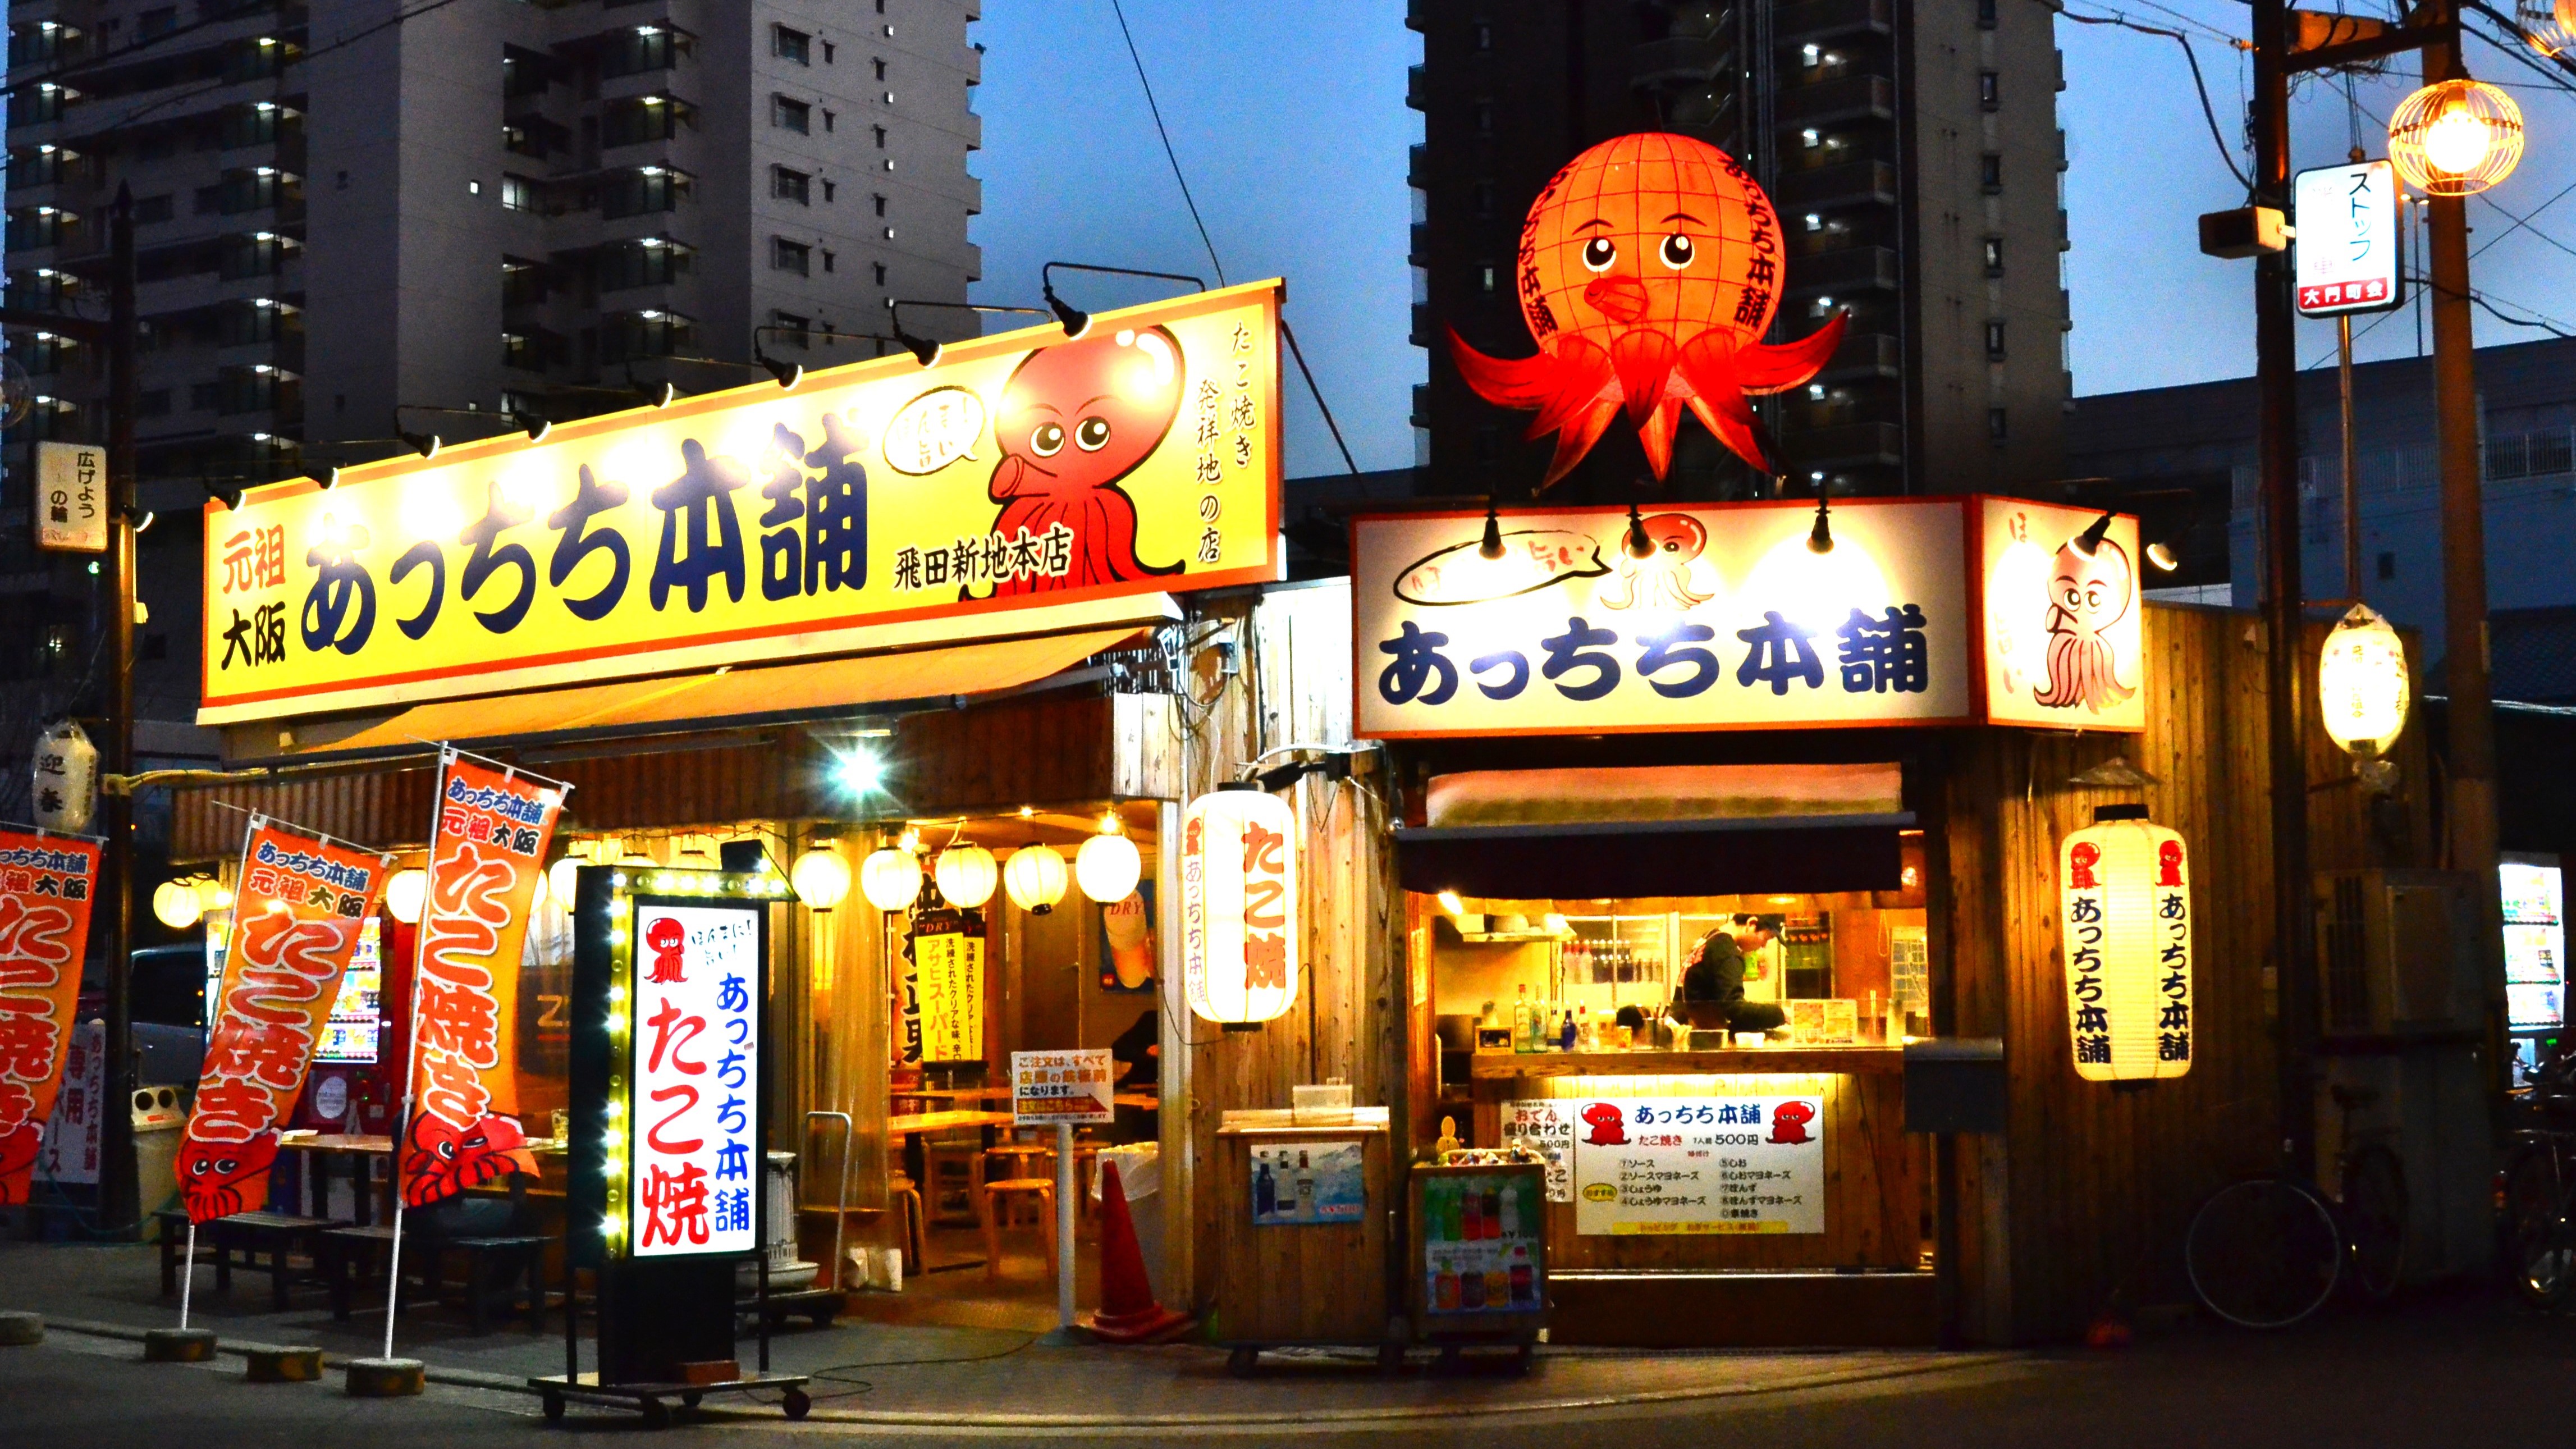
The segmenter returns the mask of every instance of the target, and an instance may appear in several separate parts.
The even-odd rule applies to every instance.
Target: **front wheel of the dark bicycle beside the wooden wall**
[[[2182,1263],[2200,1302],[2241,1328],[2287,1328],[2334,1297],[2344,1235],[2308,1189],[2254,1178],[2223,1186],[2192,1214]]]

